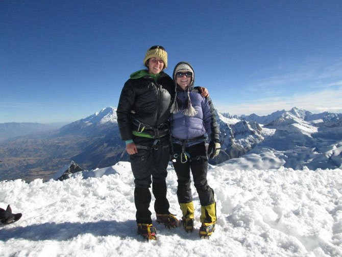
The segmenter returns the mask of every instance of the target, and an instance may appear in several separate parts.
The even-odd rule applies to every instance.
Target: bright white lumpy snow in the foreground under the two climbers
[[[281,161],[276,154],[265,151],[262,158]],[[157,241],[142,240],[129,162],[64,181],[0,181],[0,207],[11,204],[13,213],[23,214],[0,226],[0,256],[342,256],[342,170],[272,169],[276,165],[267,161],[253,169],[253,162],[261,165],[240,158],[239,166],[209,167],[218,217],[209,240],[198,236],[193,184],[196,229],[186,233],[154,222]],[[167,188],[170,212],[181,218],[172,167]]]

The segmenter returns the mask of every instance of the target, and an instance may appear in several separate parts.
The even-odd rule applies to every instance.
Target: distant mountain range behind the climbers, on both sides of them
[[[217,113],[217,117],[222,150],[210,160],[212,165],[225,162],[232,169],[341,167],[342,114],[315,114],[294,107],[265,116]],[[32,131],[22,123],[15,126],[28,134],[9,138],[11,126],[0,124],[0,180],[47,179],[71,160],[86,170],[129,160],[113,107],[50,131]]]

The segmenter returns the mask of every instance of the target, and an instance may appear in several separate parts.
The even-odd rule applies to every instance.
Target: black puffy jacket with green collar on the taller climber
[[[168,134],[169,109],[174,96],[174,83],[164,72],[160,73],[157,83],[148,74],[129,79],[121,91],[116,111],[121,138],[133,139],[132,131],[141,131],[143,126],[142,132],[151,136],[155,136],[155,130],[149,127]]]

